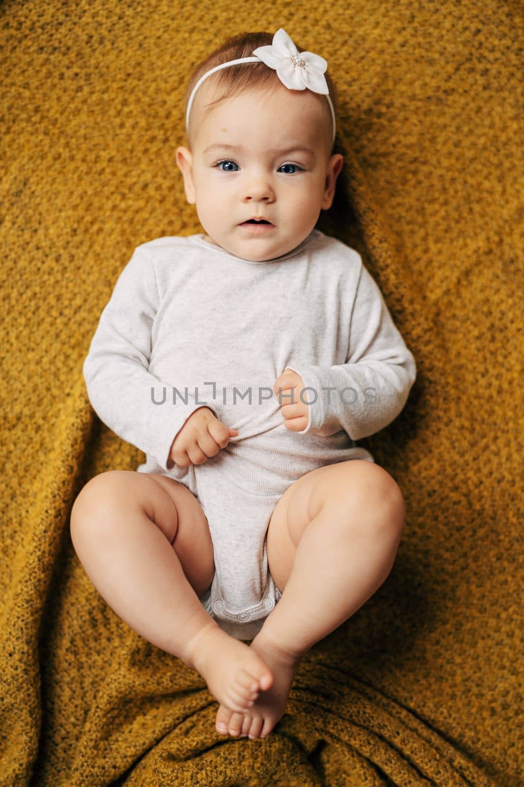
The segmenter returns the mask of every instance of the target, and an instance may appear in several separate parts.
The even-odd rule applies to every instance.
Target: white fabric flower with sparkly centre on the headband
[[[328,62],[313,52],[300,52],[288,33],[280,28],[273,35],[271,46],[258,46],[253,54],[263,63],[277,71],[277,76],[291,91],[303,91],[306,87],[313,93],[329,94],[324,72]]]

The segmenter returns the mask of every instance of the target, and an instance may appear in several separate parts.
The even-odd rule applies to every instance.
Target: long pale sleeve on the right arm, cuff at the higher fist
[[[325,437],[343,429],[352,440],[387,427],[401,412],[416,379],[415,359],[363,264],[351,312],[346,363],[287,368],[313,389],[302,394],[310,405],[309,422],[301,433]]]

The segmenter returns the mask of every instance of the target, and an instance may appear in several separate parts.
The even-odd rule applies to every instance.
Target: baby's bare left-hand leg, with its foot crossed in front
[[[271,685],[262,658],[225,634],[200,603],[197,593],[213,578],[213,544],[202,507],[183,484],[136,471],[101,473],[75,500],[71,540],[116,614],[199,671],[219,702],[240,711]]]

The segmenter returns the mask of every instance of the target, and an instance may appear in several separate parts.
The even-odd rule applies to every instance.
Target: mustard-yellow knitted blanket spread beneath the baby
[[[134,248],[203,231],[175,163],[187,76],[280,27],[339,87],[317,226],[361,253],[417,379],[359,442],[405,496],[394,567],[249,741],[104,602],[69,515],[144,460],[82,362]],[[523,39],[511,0],[3,3],[2,787],[522,785]]]

